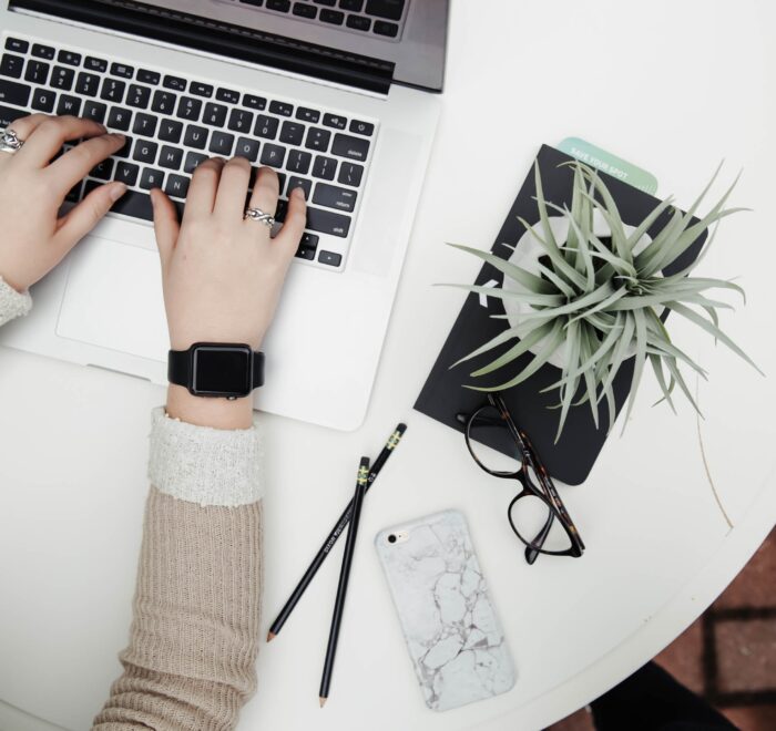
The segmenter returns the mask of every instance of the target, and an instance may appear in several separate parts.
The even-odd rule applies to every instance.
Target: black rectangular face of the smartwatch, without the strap
[[[198,346],[192,362],[192,393],[213,397],[246,397],[253,390],[249,348]]]

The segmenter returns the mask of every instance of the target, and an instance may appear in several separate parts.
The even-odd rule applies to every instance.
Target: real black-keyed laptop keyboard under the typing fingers
[[[201,162],[242,156],[254,176],[261,165],[277,171],[276,220],[285,217],[290,191],[305,189],[307,227],[297,257],[329,271],[343,268],[376,122],[34,40],[8,37],[2,48],[0,127],[42,112],[91,119],[126,135],[124,147],[94,167],[69,200],[121,181],[129,189],[112,212],[150,222],[151,188],[164,189],[182,212]]]

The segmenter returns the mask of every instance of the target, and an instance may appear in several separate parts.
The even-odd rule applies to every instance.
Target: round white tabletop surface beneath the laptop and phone
[[[453,3],[441,123],[367,420],[338,433],[262,419],[265,628],[350,496],[358,456],[409,425],[365,505],[331,699],[318,708],[339,552],[262,648],[241,728],[538,729],[653,657],[748,560],[776,518],[775,30],[767,0]],[[584,557],[529,567],[504,518],[511,485],[412,403],[463,297],[432,285],[479,266],[443,241],[489,248],[539,145],[570,135],[643,165],[683,205],[721,158],[715,195],[744,169],[732,203],[754,213],[723,223],[700,272],[739,277],[747,305],[723,323],[768,377],[672,318],[711,373],[705,421],[651,408],[646,378],[624,435],[584,485],[561,487]],[[10,350],[0,373],[0,728],[50,728],[30,713],[83,729],[120,672],[163,390]],[[448,507],[469,519],[519,675],[503,696],[433,713],[370,543]]]

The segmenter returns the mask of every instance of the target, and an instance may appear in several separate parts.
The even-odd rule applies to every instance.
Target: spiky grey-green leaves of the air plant
[[[672,394],[678,385],[700,413],[680,364],[704,379],[706,371],[672,341],[661,315],[667,309],[690,320],[757,369],[719,329],[717,310],[732,309],[731,306],[707,297],[711,289],[732,289],[746,301],[744,290],[732,281],[688,276],[711,247],[718,222],[742,210],[724,208],[737,179],[700,220],[694,215],[718,169],[686,213],[667,198],[632,229],[624,224],[614,198],[595,171],[581,163],[570,164],[574,175],[571,209],[545,200],[539,166],[534,168],[539,222],[534,226],[520,218],[520,223],[543,250],[543,256],[533,265],[537,274],[493,254],[451,244],[487,261],[511,280],[509,289],[503,286],[458,286],[471,292],[519,302],[524,310],[515,327],[508,327],[458,363],[515,341],[490,363],[473,371],[471,375],[476,378],[503,368],[525,352],[533,353],[532,360],[504,383],[468,388],[503,391],[530,378],[553,354],[564,353],[560,379],[544,389],[559,392],[555,408],[560,409],[560,421],[555,441],[560,439],[572,405],[589,403],[598,428],[599,406],[605,401],[609,431],[616,416],[612,382],[623,363],[635,354],[625,421],[647,359],[663,393],[661,401],[666,401],[675,411]],[[594,233],[594,212],[600,212],[610,235]],[[647,230],[666,212],[670,212],[666,225],[650,240]],[[566,240],[557,240],[550,225],[551,216],[562,216],[568,220]],[[711,226],[714,230],[700,256],[681,270],[664,275],[665,268]],[[507,315],[492,317],[509,319]]]

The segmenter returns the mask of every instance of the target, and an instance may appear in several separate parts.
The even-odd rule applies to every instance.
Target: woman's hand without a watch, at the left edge
[[[124,136],[74,116],[33,114],[11,128],[24,144],[0,152],[0,276],[25,291],[53,269],[126,191],[106,183],[64,216],[59,208],[68,192],[98,163],[121,150]],[[70,140],[84,142],[51,159]]]

